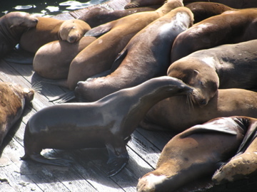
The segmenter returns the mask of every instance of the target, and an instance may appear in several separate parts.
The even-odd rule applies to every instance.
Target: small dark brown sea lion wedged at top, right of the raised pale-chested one
[[[224,4],[217,4],[211,2],[195,2],[186,5],[193,13],[194,23],[203,21],[211,16],[222,14],[225,11],[235,10]]]

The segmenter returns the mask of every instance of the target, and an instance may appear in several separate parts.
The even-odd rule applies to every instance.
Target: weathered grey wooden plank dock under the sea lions
[[[138,178],[154,169],[161,149],[172,137],[166,132],[137,129],[127,144],[129,164],[111,178],[106,176],[106,149],[43,151],[47,156],[71,159],[73,164],[68,168],[22,161],[24,129],[29,117],[44,107],[55,105],[49,99],[68,90],[41,82],[32,65],[4,60],[0,61],[0,80],[24,87],[41,84],[41,92],[26,105],[23,118],[11,129],[0,148],[0,191],[136,191]]]

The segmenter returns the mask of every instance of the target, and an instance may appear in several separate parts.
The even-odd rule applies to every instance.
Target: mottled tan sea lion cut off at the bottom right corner
[[[238,155],[221,166],[212,177],[216,184],[237,181],[257,174],[257,119],[245,118],[248,122],[248,137],[238,149]]]

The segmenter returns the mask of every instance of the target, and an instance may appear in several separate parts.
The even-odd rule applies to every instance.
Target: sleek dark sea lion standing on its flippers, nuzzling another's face
[[[108,175],[114,176],[129,159],[127,139],[151,106],[166,97],[190,92],[191,87],[181,80],[163,76],[114,92],[96,102],[46,107],[36,112],[26,124],[22,159],[68,166],[67,161],[41,156],[41,150],[106,146]]]

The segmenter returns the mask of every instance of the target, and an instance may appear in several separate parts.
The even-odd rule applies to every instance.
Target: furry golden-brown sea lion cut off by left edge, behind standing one
[[[31,102],[34,90],[11,82],[0,82],[0,146],[14,123],[21,117],[24,106]]]

